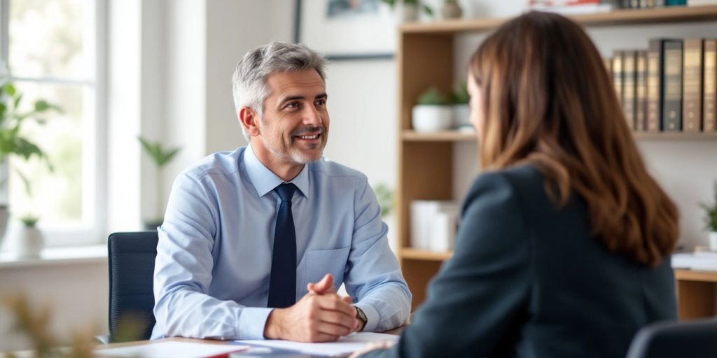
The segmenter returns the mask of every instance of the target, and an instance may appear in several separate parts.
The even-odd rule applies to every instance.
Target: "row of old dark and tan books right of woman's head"
[[[651,39],[605,65],[627,125],[647,132],[716,132],[717,40]]]

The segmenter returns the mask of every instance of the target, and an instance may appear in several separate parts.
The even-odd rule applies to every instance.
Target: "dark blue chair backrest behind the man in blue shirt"
[[[110,342],[149,339],[152,334],[157,241],[157,231],[110,235]]]

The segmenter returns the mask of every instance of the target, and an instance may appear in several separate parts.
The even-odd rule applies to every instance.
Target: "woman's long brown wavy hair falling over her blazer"
[[[678,238],[678,209],[647,173],[612,79],[580,26],[531,11],[491,34],[469,64],[480,88],[484,169],[533,163],[546,192],[587,203],[609,251],[656,266]]]

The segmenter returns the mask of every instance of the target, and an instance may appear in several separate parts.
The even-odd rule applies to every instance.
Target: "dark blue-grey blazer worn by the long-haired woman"
[[[637,329],[676,319],[669,258],[607,251],[587,207],[547,197],[531,165],[480,175],[454,256],[392,349],[369,357],[625,357]]]

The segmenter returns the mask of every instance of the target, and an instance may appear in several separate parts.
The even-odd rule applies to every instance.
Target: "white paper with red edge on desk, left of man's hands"
[[[238,344],[156,342],[128,347],[95,349],[95,354],[100,357],[202,358],[221,357],[246,349],[249,347]]]

